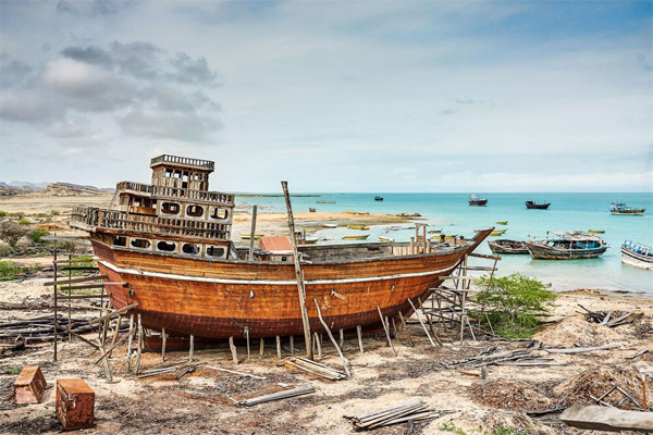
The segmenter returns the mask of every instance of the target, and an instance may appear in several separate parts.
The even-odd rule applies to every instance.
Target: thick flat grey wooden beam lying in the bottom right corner
[[[617,408],[576,405],[560,420],[568,426],[594,431],[653,432],[653,412],[624,411]]]

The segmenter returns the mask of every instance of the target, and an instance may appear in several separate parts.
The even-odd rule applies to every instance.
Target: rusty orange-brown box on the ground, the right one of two
[[[83,380],[57,380],[57,418],[64,431],[91,427],[95,391]]]

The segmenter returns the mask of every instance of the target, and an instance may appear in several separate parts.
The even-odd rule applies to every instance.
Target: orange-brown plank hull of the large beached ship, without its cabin
[[[323,332],[316,302],[329,327],[348,330],[379,323],[383,315],[411,312],[488,235],[451,252],[380,257],[303,264],[312,331]],[[173,335],[250,338],[301,335],[301,314],[292,262],[210,262],[155,252],[114,249],[91,237],[114,307],[137,302],[132,312],[145,327]]]

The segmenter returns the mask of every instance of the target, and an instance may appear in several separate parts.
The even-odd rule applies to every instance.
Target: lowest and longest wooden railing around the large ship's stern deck
[[[231,234],[231,224],[148,216],[97,207],[75,207],[71,217],[71,226],[85,231],[115,229],[212,239],[229,239]]]

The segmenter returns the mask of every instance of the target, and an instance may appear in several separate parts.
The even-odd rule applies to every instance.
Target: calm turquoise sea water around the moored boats
[[[508,231],[502,237],[522,240],[529,236],[543,237],[547,231],[605,229],[600,235],[611,246],[605,254],[592,260],[547,261],[531,260],[529,256],[504,256],[498,263],[500,274],[519,272],[552,283],[555,288],[608,288],[653,293],[653,271],[643,271],[621,263],[620,246],[625,239],[653,246],[652,194],[481,194],[489,199],[488,207],[469,207],[468,194],[377,194],[383,202],[374,201],[374,194],[321,194],[321,197],[293,197],[293,210],[308,211],[369,211],[370,213],[421,213],[423,222],[446,234],[473,235],[475,228],[497,225],[508,221]],[[549,210],[528,210],[523,201],[552,202]],[[261,211],[285,211],[283,198],[238,198],[239,206],[258,204]],[[316,203],[319,200],[336,203]],[[609,213],[609,203],[621,201],[633,208],[645,208],[643,216],[616,216]],[[406,224],[408,226],[408,224]],[[384,225],[372,226],[368,241],[386,235]],[[318,235],[344,243],[342,236],[357,234],[346,228],[324,229]],[[415,229],[390,232],[387,236],[407,241]],[[490,253],[486,243],[478,250]]]

